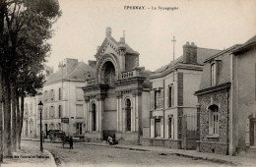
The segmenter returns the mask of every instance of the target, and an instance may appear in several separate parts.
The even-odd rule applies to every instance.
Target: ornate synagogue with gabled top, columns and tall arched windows
[[[149,127],[149,81],[139,67],[139,53],[111,28],[96,51],[96,77],[89,74],[83,87],[88,140],[100,141],[115,135],[119,143],[139,143]],[[149,132],[148,132],[149,136]]]

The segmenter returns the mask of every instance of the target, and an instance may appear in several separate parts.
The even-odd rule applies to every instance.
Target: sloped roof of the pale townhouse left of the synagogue
[[[68,72],[66,75],[62,77],[62,69],[59,68],[57,72],[53,73],[48,79],[46,79],[45,84],[49,83],[56,83],[58,81],[68,80],[68,81],[85,81],[88,72],[90,72],[90,75],[93,77],[96,75],[96,70],[87,65],[84,62],[79,62],[70,72]]]

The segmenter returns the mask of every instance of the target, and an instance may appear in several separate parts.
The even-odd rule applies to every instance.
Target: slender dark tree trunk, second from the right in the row
[[[16,139],[18,148],[21,149],[21,137],[20,137],[20,127],[21,127],[21,110],[20,110],[20,100],[19,100],[19,91],[16,89],[16,109],[17,109],[17,118],[16,118]]]

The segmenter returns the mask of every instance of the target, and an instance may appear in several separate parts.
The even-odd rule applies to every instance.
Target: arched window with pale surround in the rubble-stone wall
[[[209,108],[209,135],[219,135],[219,107],[217,105],[211,105]]]

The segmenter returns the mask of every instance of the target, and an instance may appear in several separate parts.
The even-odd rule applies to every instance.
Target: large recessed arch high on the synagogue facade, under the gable
[[[113,83],[115,79],[115,68],[112,62],[107,61],[102,67],[101,70],[101,83]]]

